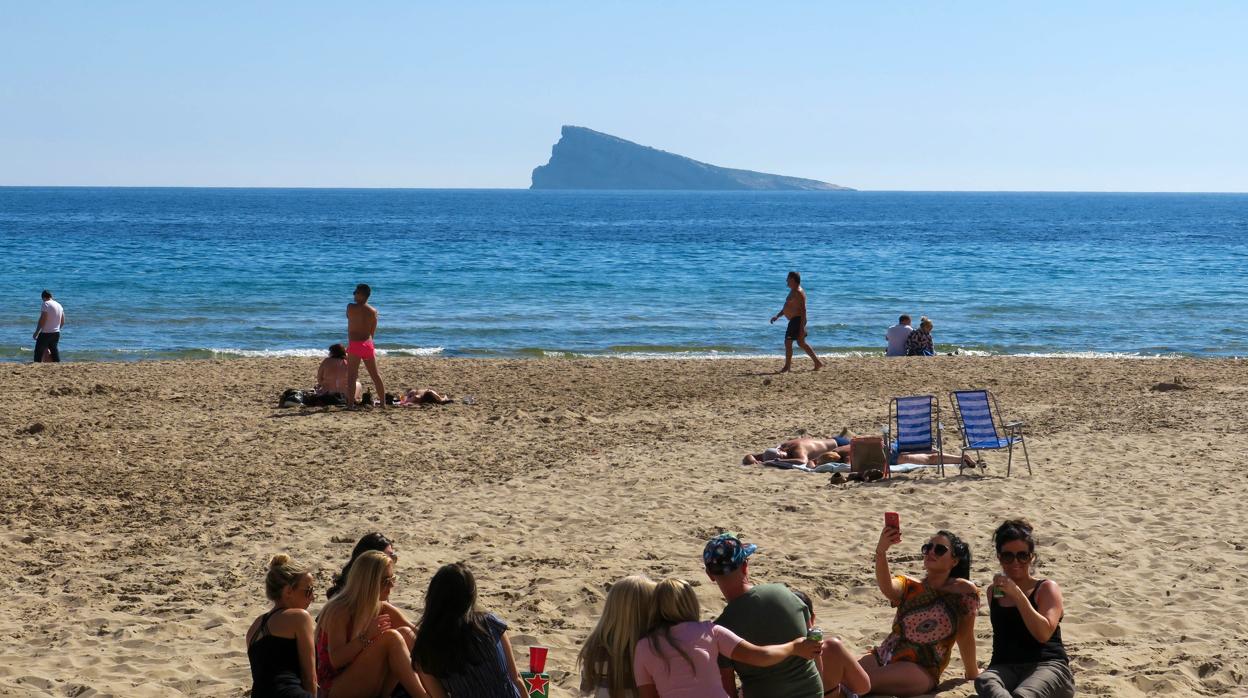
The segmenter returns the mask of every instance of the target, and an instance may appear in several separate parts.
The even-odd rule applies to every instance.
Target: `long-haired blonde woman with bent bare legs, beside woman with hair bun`
[[[409,627],[394,627],[387,612],[398,583],[394,561],[368,551],[351,564],[342,591],[321,611],[317,623],[317,683],[322,698],[389,696],[397,686],[413,698],[428,698],[412,669]]]

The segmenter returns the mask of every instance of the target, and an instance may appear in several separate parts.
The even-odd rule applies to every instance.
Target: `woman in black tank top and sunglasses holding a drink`
[[[1002,523],[992,543],[1001,562],[1001,573],[988,587],[992,662],[975,688],[985,698],[1071,698],[1075,674],[1062,646],[1062,589],[1052,579],[1032,576],[1036,538],[1031,523]]]

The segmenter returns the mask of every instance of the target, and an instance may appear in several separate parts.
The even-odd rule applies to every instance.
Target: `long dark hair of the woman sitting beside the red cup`
[[[472,571],[462,562],[442,566],[424,594],[412,662],[436,677],[458,674],[484,662],[493,642],[485,613],[477,608]]]

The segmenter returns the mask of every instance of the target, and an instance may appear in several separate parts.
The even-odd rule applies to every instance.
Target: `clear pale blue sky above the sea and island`
[[[562,124],[884,190],[1248,191],[1248,2],[0,5],[0,185],[525,187]]]

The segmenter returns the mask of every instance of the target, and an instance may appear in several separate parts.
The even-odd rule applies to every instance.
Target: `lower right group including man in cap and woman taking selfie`
[[[900,542],[901,531],[885,526],[876,546],[875,577],[897,611],[889,636],[860,658],[839,638],[822,639],[821,631],[811,632],[815,612],[809,597],[784,584],[754,586],[746,558],[756,547],[725,533],[711,538],[703,552],[706,574],[728,601],[719,618],[696,622],[696,598],[685,602],[683,613],[674,612],[674,599],[693,596],[683,582],[655,586],[639,576],[617,582],[577,658],[580,693],[595,698],[851,698],[869,692],[912,697],[936,689],[957,644],[963,677],[975,681],[981,697],[1075,694],[1060,629],[1061,589],[1056,582],[1032,577],[1031,524],[1007,521],[993,533],[1002,571],[990,587],[992,662],[983,672],[975,656],[978,589],[968,581],[970,546],[948,531],[937,532],[921,547],[922,578],[914,578],[894,576],[889,568],[887,551]],[[817,651],[812,641],[797,639],[779,646],[790,648],[780,663],[756,661],[764,657],[754,653],[758,646],[804,633],[820,639]]]

